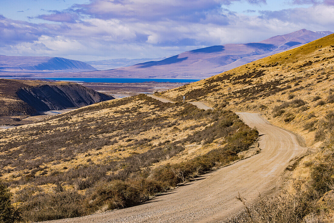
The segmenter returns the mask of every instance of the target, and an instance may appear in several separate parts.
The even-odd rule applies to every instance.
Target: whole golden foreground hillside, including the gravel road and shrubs
[[[330,222],[333,50],[1,130],[1,180],[24,222]]]

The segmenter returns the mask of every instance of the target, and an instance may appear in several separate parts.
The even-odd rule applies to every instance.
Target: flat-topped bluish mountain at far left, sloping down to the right
[[[0,55],[0,72],[33,71],[96,71],[94,67],[81,61],[61,57],[16,57]]]

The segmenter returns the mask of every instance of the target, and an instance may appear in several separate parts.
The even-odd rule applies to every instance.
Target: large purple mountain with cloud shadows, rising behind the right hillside
[[[322,38],[331,31],[301,29],[261,42],[225,44],[194,49],[160,61],[99,72],[70,74],[76,77],[207,78],[269,55]],[[66,74],[62,74],[66,76]]]

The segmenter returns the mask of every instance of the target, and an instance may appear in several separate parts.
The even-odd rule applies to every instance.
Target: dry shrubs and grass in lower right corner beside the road
[[[317,159],[305,163],[310,178],[295,180],[292,190],[261,199],[251,209],[250,222],[258,223],[333,223],[334,222],[334,112],[321,121],[324,141]],[[320,133],[319,133],[320,134]]]

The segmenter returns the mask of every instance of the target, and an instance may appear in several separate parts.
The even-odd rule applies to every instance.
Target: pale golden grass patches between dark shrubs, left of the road
[[[130,103],[123,103],[127,99],[115,99],[112,101],[106,101],[102,102],[99,104],[103,104],[105,108],[102,108],[100,110],[95,110],[94,108],[96,106],[99,106],[99,104],[94,104],[90,106],[86,106],[84,108],[79,108],[73,111],[65,112],[61,115],[53,116],[51,118],[45,119],[39,123],[33,123],[33,124],[28,124],[28,125],[22,125],[18,127],[14,127],[12,129],[5,129],[3,131],[6,131],[6,134],[4,137],[0,138],[0,147],[1,145],[5,145],[8,142],[11,141],[27,141],[29,143],[29,140],[32,139],[38,139],[40,138],[43,134],[48,134],[52,136],[52,134],[55,134],[56,132],[61,132],[61,131],[72,131],[78,128],[79,123],[85,123],[85,120],[93,120],[91,124],[91,128],[94,128],[98,125],[98,120],[102,118],[109,118],[109,125],[118,125],[118,121],[113,121],[114,118],[122,118],[124,114],[120,113],[120,111],[124,111],[127,109],[130,109],[130,112],[127,112],[126,114],[129,115],[127,116],[126,120],[122,120],[121,122],[133,122],[133,121],[144,121],[147,119],[151,119],[154,117],[165,117],[166,121],[165,122],[173,122],[177,121],[178,117],[174,117],[173,114],[175,112],[180,111],[182,107],[171,107],[167,108],[165,110],[159,110],[157,106],[149,104],[146,102],[146,100],[132,100]],[[114,104],[120,104],[118,106],[113,106]],[[141,108],[138,108],[135,112],[133,110],[138,107],[138,105],[141,105]],[[92,111],[90,110],[92,108]],[[85,110],[82,112],[82,110]],[[143,120],[138,120],[136,117],[136,113],[140,112],[149,112],[149,111],[155,111],[155,114],[151,117],[145,117]],[[72,115],[74,114],[74,115]],[[69,115],[69,118],[67,120],[60,120],[59,117],[63,117]],[[93,162],[95,164],[103,164],[112,160],[122,160],[128,156],[131,156],[134,153],[144,153],[151,149],[151,147],[147,145],[142,145],[142,146],[131,146],[131,141],[129,142],[128,139],[136,139],[136,140],[141,140],[144,138],[151,138],[151,137],[156,137],[150,143],[152,145],[158,145],[161,142],[169,140],[170,142],[174,142],[183,138],[186,138],[188,135],[192,134],[193,132],[197,130],[203,130],[205,128],[204,126],[199,126],[199,127],[194,127],[190,129],[191,126],[195,126],[197,124],[201,124],[204,122],[207,122],[208,120],[203,117],[200,119],[190,119],[190,120],[185,120],[185,121],[179,121],[177,124],[177,127],[175,128],[174,126],[171,127],[165,127],[165,128],[158,128],[158,127],[153,127],[151,129],[148,129],[144,132],[140,132],[137,135],[127,135],[127,133],[123,132],[123,130],[118,130],[114,131],[112,133],[104,133],[102,135],[95,135],[92,137],[107,137],[111,136],[114,134],[120,134],[122,139],[120,137],[115,138],[117,140],[116,143],[112,145],[106,145],[103,146],[99,150],[95,150],[95,148],[92,148],[89,151],[83,152],[83,153],[76,153],[74,154],[74,157],[70,160],[64,161],[64,160],[55,160],[52,162],[45,162],[43,165],[40,167],[43,169],[41,171],[36,172],[36,176],[41,176],[42,172],[47,172],[45,176],[48,176],[54,172],[64,172],[67,169],[75,169],[78,168],[82,165],[89,165],[89,162]],[[42,135],[40,134],[33,134],[38,132],[39,126],[45,126],[45,124],[49,125],[50,128],[43,132]],[[22,134],[23,133],[23,134]],[[33,135],[31,135],[33,134]],[[188,144],[185,144],[187,147]],[[212,150],[215,148],[214,146],[206,146],[205,149],[202,149],[201,146],[195,146],[191,147],[191,152],[187,150],[187,152],[184,152],[182,154],[179,154],[179,157],[182,158],[173,158],[173,162],[180,162],[187,160],[191,157],[198,156],[204,153],[207,153],[208,151]],[[0,152],[0,155],[5,155],[8,154],[8,152],[13,152],[15,150],[20,150],[22,149],[21,147],[17,148],[12,148],[8,151],[2,151]],[[63,150],[64,152],[66,151],[66,147],[59,148],[60,150]],[[20,155],[23,155],[21,153]],[[16,159],[14,157],[14,159]],[[30,161],[38,161],[40,158],[34,158]],[[91,160],[91,161],[88,161]],[[11,170],[11,171],[8,171]],[[1,180],[3,181],[13,181],[13,180],[21,180],[27,177],[30,173],[28,169],[23,169],[23,170],[15,170],[12,166],[4,166],[1,170],[2,176],[0,177]],[[8,172],[8,173],[7,173]],[[50,185],[41,185],[41,187],[45,192],[51,190],[52,187],[55,185],[50,184]],[[71,188],[73,185],[68,185],[64,184],[64,187]],[[22,189],[16,188],[14,189],[14,192]]]

